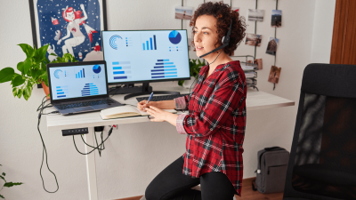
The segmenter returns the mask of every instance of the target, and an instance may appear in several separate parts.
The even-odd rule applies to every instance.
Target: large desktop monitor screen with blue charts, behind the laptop
[[[102,31],[109,84],[190,78],[187,30]]]

